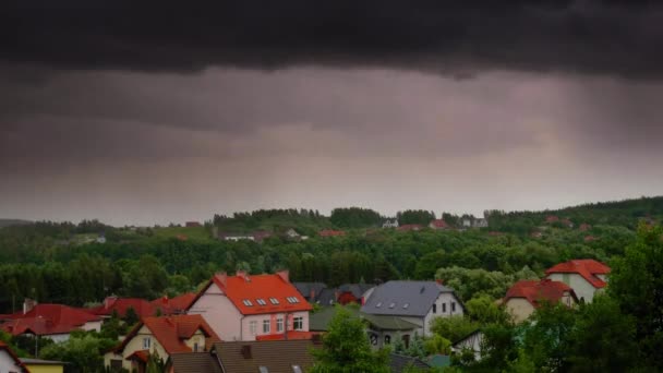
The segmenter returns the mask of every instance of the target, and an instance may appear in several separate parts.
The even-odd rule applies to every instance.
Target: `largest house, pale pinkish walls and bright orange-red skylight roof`
[[[201,314],[225,340],[309,332],[313,308],[290,282],[288,270],[274,275],[216,274],[193,300],[189,314]]]

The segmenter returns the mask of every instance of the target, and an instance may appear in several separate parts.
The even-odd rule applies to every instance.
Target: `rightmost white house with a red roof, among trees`
[[[570,286],[581,301],[591,302],[607,285],[610,267],[594,260],[575,260],[559,263],[545,274],[552,280]]]

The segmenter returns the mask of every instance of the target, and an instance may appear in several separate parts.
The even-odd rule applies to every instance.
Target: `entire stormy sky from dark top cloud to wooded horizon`
[[[653,1],[0,7],[0,218],[663,194]]]

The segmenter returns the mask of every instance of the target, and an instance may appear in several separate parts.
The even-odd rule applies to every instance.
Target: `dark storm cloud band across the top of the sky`
[[[169,5],[170,4],[170,5]],[[65,69],[490,69],[661,76],[654,1],[15,1],[0,58]]]

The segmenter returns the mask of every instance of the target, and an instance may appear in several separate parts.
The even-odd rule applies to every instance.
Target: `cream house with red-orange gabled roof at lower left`
[[[173,353],[205,352],[221,339],[201,315],[144,317],[104,356],[111,371],[145,372],[152,354],[166,362]]]

